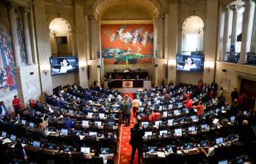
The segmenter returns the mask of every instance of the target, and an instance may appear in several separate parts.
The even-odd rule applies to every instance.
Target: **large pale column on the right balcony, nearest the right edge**
[[[244,0],[244,19],[242,29],[242,42],[239,63],[246,63],[246,53],[250,51],[252,39],[252,20],[255,10],[255,2],[252,0]]]

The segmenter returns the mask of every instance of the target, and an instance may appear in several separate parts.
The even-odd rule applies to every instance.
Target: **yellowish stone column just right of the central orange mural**
[[[164,15],[158,16],[158,58],[164,57]]]

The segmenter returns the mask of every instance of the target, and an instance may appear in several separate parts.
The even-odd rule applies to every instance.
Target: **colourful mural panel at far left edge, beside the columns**
[[[0,5],[0,95],[17,89],[7,7]]]

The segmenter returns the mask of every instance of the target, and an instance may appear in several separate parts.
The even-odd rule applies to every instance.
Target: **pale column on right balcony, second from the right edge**
[[[221,56],[220,61],[224,59],[225,53],[230,52],[230,34],[231,34],[231,20],[232,20],[232,15],[231,15],[230,8],[227,7],[225,10],[225,18],[224,18],[224,34],[223,34],[223,53]]]

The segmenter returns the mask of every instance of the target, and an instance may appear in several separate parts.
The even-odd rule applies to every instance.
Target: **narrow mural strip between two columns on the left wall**
[[[24,33],[23,33],[23,26],[22,26],[22,15],[21,12],[18,10],[18,17],[17,21],[17,31],[18,31],[18,43],[20,45],[20,53],[21,53],[21,62],[23,65],[26,65],[26,52],[25,52],[25,45],[24,45]]]

